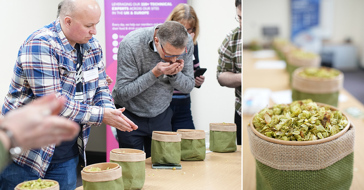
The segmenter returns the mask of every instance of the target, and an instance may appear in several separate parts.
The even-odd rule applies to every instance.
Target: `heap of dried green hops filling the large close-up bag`
[[[275,104],[264,108],[253,118],[258,132],[285,141],[312,141],[333,136],[348,124],[339,110],[318,106],[311,99],[290,105]]]

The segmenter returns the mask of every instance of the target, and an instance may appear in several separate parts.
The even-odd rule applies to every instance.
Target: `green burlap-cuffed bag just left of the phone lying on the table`
[[[124,189],[142,189],[145,182],[145,152],[137,149],[112,149],[110,162],[122,167]]]

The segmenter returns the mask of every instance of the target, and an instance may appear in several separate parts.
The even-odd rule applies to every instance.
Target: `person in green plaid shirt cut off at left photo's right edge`
[[[240,26],[227,33],[218,50],[217,80],[221,86],[235,88],[234,120],[237,127],[237,144],[241,145],[241,0],[236,0],[235,6],[237,12],[235,19]]]

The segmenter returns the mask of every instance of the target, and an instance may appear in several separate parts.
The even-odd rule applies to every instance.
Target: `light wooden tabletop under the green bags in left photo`
[[[181,165],[180,170],[152,169],[151,158],[147,158],[142,190],[241,189],[241,145],[235,152],[211,152],[204,161],[181,161]]]

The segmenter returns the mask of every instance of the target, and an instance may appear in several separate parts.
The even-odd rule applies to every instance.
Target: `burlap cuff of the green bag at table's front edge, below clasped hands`
[[[97,172],[97,173],[87,173],[81,171],[82,180],[88,182],[103,182],[103,181],[113,181],[122,177],[122,170],[119,166],[115,170]]]

